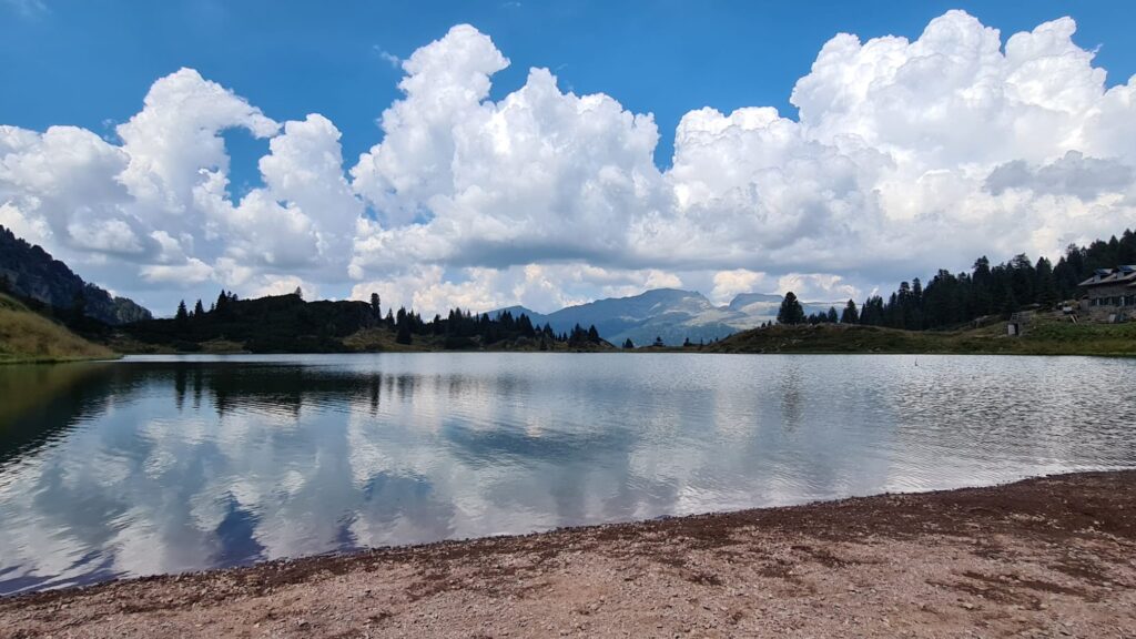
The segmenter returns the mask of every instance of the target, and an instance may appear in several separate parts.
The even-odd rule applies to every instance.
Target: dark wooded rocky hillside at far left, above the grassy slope
[[[0,226],[0,280],[16,296],[57,309],[73,309],[82,300],[85,315],[105,324],[125,324],[152,317],[149,310],[134,301],[111,297],[99,287],[84,282],[66,264],[3,226]]]

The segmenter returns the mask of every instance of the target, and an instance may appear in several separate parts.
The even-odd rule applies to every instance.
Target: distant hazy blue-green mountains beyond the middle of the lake
[[[687,339],[710,342],[774,322],[783,299],[778,294],[741,293],[725,306],[715,306],[698,291],[652,289],[637,296],[599,299],[549,314],[510,306],[490,315],[495,317],[506,310],[513,316],[524,313],[534,324],[550,324],[557,332],[570,331],[576,324],[594,325],[600,337],[616,346],[628,339],[635,346],[648,346],[655,338],[668,346],[678,346]],[[802,306],[808,315],[827,312],[833,306],[840,308],[843,302],[802,302]]]

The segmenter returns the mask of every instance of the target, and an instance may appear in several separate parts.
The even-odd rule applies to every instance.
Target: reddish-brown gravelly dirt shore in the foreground
[[[1136,472],[0,599],[0,637],[1136,637]]]

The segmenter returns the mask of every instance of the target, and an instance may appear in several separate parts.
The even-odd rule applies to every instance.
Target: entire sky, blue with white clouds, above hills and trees
[[[863,299],[1136,226],[1136,3],[0,0],[0,224],[159,315]]]

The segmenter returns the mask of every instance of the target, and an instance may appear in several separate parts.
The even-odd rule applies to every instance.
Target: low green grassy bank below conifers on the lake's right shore
[[[1136,323],[1072,324],[1042,316],[1021,337],[1008,337],[1005,324],[967,331],[899,331],[878,326],[772,326],[730,335],[708,346],[711,352],[882,352],[991,355],[1136,356]]]

